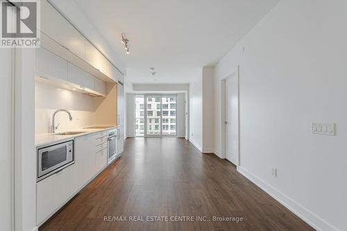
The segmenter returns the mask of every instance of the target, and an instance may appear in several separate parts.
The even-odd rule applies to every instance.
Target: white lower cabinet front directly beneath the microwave
[[[75,164],[37,182],[37,224],[41,224],[74,195]]]

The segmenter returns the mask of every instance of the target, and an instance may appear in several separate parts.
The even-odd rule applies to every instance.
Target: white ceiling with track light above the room
[[[222,58],[279,0],[74,1],[123,55],[130,82],[189,83],[196,70]],[[130,40],[129,55],[121,33]],[[154,78],[150,67],[157,72]]]

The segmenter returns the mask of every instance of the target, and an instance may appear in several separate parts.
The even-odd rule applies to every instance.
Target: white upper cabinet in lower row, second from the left
[[[69,63],[69,82],[82,88],[94,89],[94,76]]]

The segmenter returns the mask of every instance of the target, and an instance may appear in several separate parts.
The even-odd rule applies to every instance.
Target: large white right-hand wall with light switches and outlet
[[[215,70],[219,125],[221,78],[240,65],[240,171],[317,230],[347,230],[346,22],[347,1],[282,0]]]

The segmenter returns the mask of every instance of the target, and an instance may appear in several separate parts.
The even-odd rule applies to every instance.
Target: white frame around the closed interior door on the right
[[[221,158],[226,159],[226,79],[236,76],[237,81],[237,163],[235,164],[237,170],[240,165],[240,155],[239,155],[239,65],[228,74],[225,78],[221,79]]]

